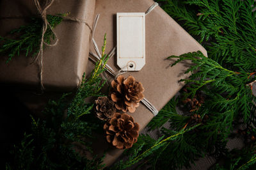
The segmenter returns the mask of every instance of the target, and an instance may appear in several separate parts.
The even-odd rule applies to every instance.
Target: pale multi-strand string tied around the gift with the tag
[[[147,14],[150,13],[150,12],[152,12],[152,10],[154,10],[154,8],[156,8],[157,5],[158,5],[158,3],[152,4],[152,6],[150,6],[150,8],[148,8],[147,12],[145,12],[145,15],[147,15]],[[96,51],[97,54],[95,54],[95,53],[93,53],[93,52],[90,51],[90,55],[91,55],[91,56],[89,56],[89,58],[90,58],[93,62],[95,62],[95,63],[96,63],[97,61],[99,61],[100,58],[102,58],[102,56],[101,56],[101,54],[100,54],[100,51],[99,51],[99,47],[98,47],[98,45],[97,45],[97,43],[96,43],[96,41],[95,41],[95,39],[94,39],[94,32],[95,32],[95,28],[96,28],[96,26],[97,26],[97,22],[98,22],[98,20],[99,20],[99,16],[100,16],[99,14],[96,15],[95,20],[94,20],[94,22],[93,22],[93,29],[92,29],[92,42],[93,42],[93,47],[94,47],[94,49],[95,49],[95,51]],[[109,52],[108,56],[109,56],[109,58],[111,58],[111,57],[113,57],[115,54],[116,54],[116,47],[114,47],[114,48],[111,50],[111,52]],[[94,58],[92,58],[92,56],[93,56]],[[124,68],[127,67],[127,66],[128,66],[128,65],[124,66]],[[122,75],[122,74],[124,74],[124,73],[127,73],[127,71],[124,71],[124,68],[121,68],[120,70],[118,70],[118,72],[115,72],[115,71],[113,70],[113,68],[111,68],[111,66],[109,66],[108,64],[106,64],[105,67],[106,67],[106,71],[107,71],[108,73],[110,73],[114,78],[118,77],[118,75]],[[108,80],[108,76],[106,75],[105,72],[104,72],[103,75],[104,75],[105,79]],[[108,82],[108,81],[107,81],[107,82]],[[154,116],[156,116],[156,115],[158,114],[159,111],[156,109],[156,107],[154,107],[154,105],[152,105],[145,97],[144,97],[140,102],[141,102],[143,105],[145,105],[145,106],[148,108],[148,110],[150,110],[150,111],[152,112],[152,114],[154,114]]]

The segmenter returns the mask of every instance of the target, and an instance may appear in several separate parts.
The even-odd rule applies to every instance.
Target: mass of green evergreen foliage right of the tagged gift
[[[226,148],[227,137],[232,135],[236,125],[244,125],[246,135],[255,135],[255,97],[251,89],[256,68],[255,1],[157,2],[204,45],[209,58],[202,52],[170,56],[172,65],[188,60],[193,63],[186,72],[192,73],[189,79],[180,80],[189,84],[188,92],[181,95],[183,98],[173,98],[148,127],[154,130],[168,123],[170,129],[161,128],[162,134],[166,136],[173,130],[177,132],[182,128],[199,126],[180,135],[164,150],[148,155],[144,163],[150,165],[150,169],[181,169],[189,167],[197,158],[211,155],[217,160],[229,160],[225,166],[217,166],[216,169],[255,169],[255,142],[252,141],[243,150],[228,151]],[[177,60],[173,63],[175,58]],[[204,93],[204,104],[196,111],[177,114],[175,107],[182,103],[181,100],[193,98],[197,91]],[[200,124],[193,120],[193,115],[200,115]],[[154,139],[148,139],[147,136],[145,140]],[[145,150],[147,148],[142,148],[140,152]]]

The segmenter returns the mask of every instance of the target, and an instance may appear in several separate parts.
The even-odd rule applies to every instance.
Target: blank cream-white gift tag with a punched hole
[[[116,13],[117,65],[139,71],[145,65],[145,13]]]

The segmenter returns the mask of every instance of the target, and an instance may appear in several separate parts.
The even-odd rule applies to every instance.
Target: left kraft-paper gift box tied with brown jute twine
[[[70,13],[68,17],[85,20],[92,27],[94,9],[95,0],[56,0],[47,14]],[[28,18],[38,14],[33,0],[0,1],[0,35],[6,36],[12,29],[28,24]],[[44,47],[42,82],[46,90],[70,91],[77,88],[86,69],[90,28],[84,22],[64,19],[54,32],[59,41],[54,47]],[[8,56],[1,56],[0,82],[40,89],[40,66],[31,64],[31,55],[14,56],[8,64]]]

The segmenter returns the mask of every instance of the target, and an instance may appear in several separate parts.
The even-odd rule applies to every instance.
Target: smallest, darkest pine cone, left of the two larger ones
[[[109,100],[108,97],[98,97],[95,100],[95,114],[100,120],[108,120],[113,118],[116,112],[115,102]]]

